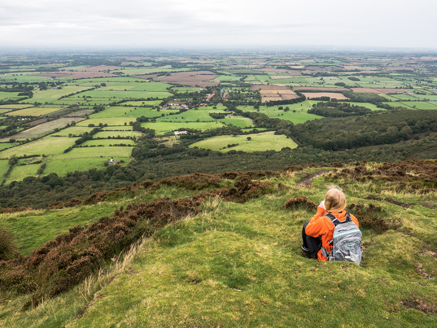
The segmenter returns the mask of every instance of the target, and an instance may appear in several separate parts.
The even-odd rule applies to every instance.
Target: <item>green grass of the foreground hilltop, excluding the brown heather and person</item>
[[[437,302],[435,210],[406,209],[378,202],[387,219],[401,227],[376,234],[362,228],[366,242],[361,266],[318,262],[302,256],[302,224],[313,211],[287,209],[286,199],[305,195],[319,203],[327,182],[298,187],[306,169],[267,179],[288,189],[244,204],[210,200],[197,216],[158,230],[132,254],[126,266],[89,280],[35,309],[18,311],[26,296],[0,299],[5,327],[434,327],[436,317],[403,305],[432,310]],[[341,181],[350,202],[369,203],[378,182]],[[357,188],[359,190],[357,190]],[[351,192],[351,190],[356,190]],[[135,197],[186,196],[161,187]],[[409,196],[408,196],[409,195]],[[405,197],[412,194],[405,193]],[[138,200],[136,198],[136,200]],[[110,215],[123,203],[100,203],[52,211],[3,214],[5,226],[21,234],[28,253],[69,225]],[[375,203],[374,201],[371,201]],[[358,220],[360,218],[358,217]],[[53,224],[56,222],[56,225]],[[428,240],[428,242],[425,242]],[[88,295],[88,296],[87,296]],[[335,305],[335,311],[333,306]],[[311,315],[309,315],[311,314]]]

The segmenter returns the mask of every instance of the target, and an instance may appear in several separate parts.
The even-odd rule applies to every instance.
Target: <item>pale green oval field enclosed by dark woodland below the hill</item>
[[[251,137],[248,140],[247,137]],[[229,144],[238,144],[238,146],[228,148]],[[284,135],[274,135],[274,131],[243,135],[243,136],[217,136],[195,142],[190,148],[199,147],[211,149],[214,151],[228,152],[230,150],[242,150],[244,152],[255,152],[265,150],[280,151],[284,147],[296,148],[297,144]],[[224,148],[224,149],[223,149]]]

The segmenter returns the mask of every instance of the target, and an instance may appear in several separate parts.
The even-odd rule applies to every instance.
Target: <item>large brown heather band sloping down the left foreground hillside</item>
[[[69,233],[47,242],[28,256],[0,261],[0,288],[32,293],[24,307],[35,306],[43,298],[65,292],[84,281],[142,235],[151,236],[166,224],[199,213],[202,201],[208,196],[131,204],[116,210],[112,217],[70,228]]]

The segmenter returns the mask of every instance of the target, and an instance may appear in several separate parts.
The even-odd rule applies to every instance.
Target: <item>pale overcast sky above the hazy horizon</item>
[[[1,0],[0,45],[437,49],[436,22],[436,0]]]

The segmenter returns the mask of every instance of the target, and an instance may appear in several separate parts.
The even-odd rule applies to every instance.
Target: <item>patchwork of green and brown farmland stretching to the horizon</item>
[[[239,113],[233,112],[234,105],[243,112],[259,112],[269,118],[291,121],[294,124],[323,119],[321,116],[307,113],[307,110],[319,101],[306,100],[287,104],[298,98],[295,91],[299,90],[308,91],[305,92],[305,96],[310,98],[327,96],[346,100],[339,92],[352,88],[354,92],[378,93],[387,99],[384,104],[390,106],[437,109],[437,78],[433,67],[430,66],[435,60],[434,57],[424,56],[424,60],[422,57],[409,55],[408,58],[401,54],[367,54],[365,57],[351,54],[351,57],[347,58],[336,53],[323,56],[314,53],[276,53],[269,56],[237,52],[217,56],[206,53],[180,55],[177,52],[138,56],[99,54],[100,57],[89,55],[89,58],[85,58],[88,55],[84,55],[84,62],[89,59],[91,63],[95,63],[89,65],[76,60],[76,57],[69,59],[68,56],[65,60],[48,56],[47,58],[51,59],[44,59],[47,61],[44,65],[41,64],[42,59],[19,57],[18,60],[17,57],[15,63],[8,65],[4,70],[5,74],[0,75],[0,87],[2,90],[6,87],[32,90],[33,97],[18,101],[25,97],[18,96],[18,92],[0,91],[0,114],[6,113],[0,116],[1,140],[29,139],[30,142],[15,144],[15,147],[10,149],[5,148],[12,144],[3,143],[0,145],[0,150],[4,149],[0,151],[0,157],[9,159],[12,155],[53,153],[43,159],[43,162],[48,161],[43,174],[65,174],[68,170],[102,168],[104,157],[110,157],[117,152],[115,149],[109,150],[111,147],[114,148],[109,146],[113,144],[139,147],[147,144],[148,146],[144,147],[146,149],[151,145],[159,145],[161,140],[166,138],[171,138],[172,141],[163,141],[160,147],[170,146],[174,142],[188,144],[187,139],[172,136],[176,129],[205,131],[228,127],[226,130],[231,131],[235,130],[232,128],[234,125],[242,129],[250,127],[251,130],[256,128],[261,131],[259,126],[254,126],[251,119],[244,117],[245,114],[239,116]],[[9,60],[7,56],[4,58]],[[111,64],[103,65],[101,62]],[[411,65],[411,62],[419,64]],[[47,66],[53,71],[38,70],[41,66]],[[408,71],[405,72],[404,69]],[[339,82],[344,83],[345,87],[337,87],[335,84]],[[256,92],[258,90],[259,93]],[[407,94],[404,94],[404,91]],[[262,105],[262,102],[268,101],[280,103],[272,106]],[[186,104],[187,108],[170,105],[172,103]],[[348,104],[382,110],[370,103]],[[288,107],[288,110],[279,110],[280,105],[283,108]],[[226,117],[214,119],[210,113],[225,114]],[[40,118],[26,123],[26,120],[19,116]],[[144,122],[145,119],[140,119],[142,116],[149,118],[149,121]],[[156,131],[154,139],[149,140],[151,137],[148,135],[144,135],[146,138],[139,138],[143,134],[133,131],[133,126],[137,129],[137,119],[142,127]],[[72,121],[75,121],[76,125],[66,128],[67,123]],[[90,132],[100,123],[108,126],[103,127],[102,132],[97,133],[94,138],[105,139],[86,140],[81,145],[88,147],[78,147],[63,153],[75,144],[80,135]],[[275,126],[274,121],[271,123]],[[49,134],[62,137],[51,138],[48,137]],[[168,136],[161,138],[163,134]],[[68,138],[68,135],[77,137]],[[117,136],[120,136],[120,139],[114,139]],[[134,140],[122,139],[128,137],[135,137],[135,143]],[[202,133],[198,133],[195,138],[203,138]],[[271,146],[272,138],[255,136],[250,143],[244,143],[244,147],[243,143],[240,143],[240,148],[232,147],[230,150],[252,151],[249,146],[257,150],[269,149],[266,145]],[[264,146],[261,144],[263,142]],[[278,143],[280,142],[279,140]],[[95,147],[96,145],[104,146]],[[227,148],[227,144],[224,146]],[[126,163],[129,162],[133,148],[119,149]],[[138,153],[137,150],[135,149],[134,155]],[[22,160],[19,159],[19,163]],[[74,164],[76,161],[80,165]],[[11,172],[8,182],[12,178],[21,178],[26,172],[36,172],[32,166],[18,166],[19,164],[14,168],[15,171]],[[167,172],[169,169],[162,170]]]

